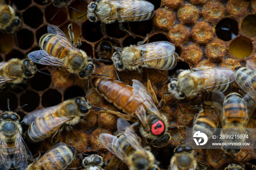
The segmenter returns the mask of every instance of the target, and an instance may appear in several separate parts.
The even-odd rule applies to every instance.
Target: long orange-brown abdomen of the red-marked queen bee
[[[122,109],[127,114],[132,114],[142,105],[141,102],[133,98],[133,89],[129,85],[113,80],[111,78],[96,77],[91,80],[94,88],[113,103],[117,108]]]

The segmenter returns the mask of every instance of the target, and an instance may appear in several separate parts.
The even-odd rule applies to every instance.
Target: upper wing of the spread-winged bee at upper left
[[[76,53],[82,55],[82,53],[68,39],[67,35],[65,35],[64,32],[60,30],[60,28],[54,25],[48,25],[47,30],[49,34],[55,34],[56,36],[59,36],[58,40],[55,41],[57,42],[56,45],[60,45],[69,51],[75,51]]]

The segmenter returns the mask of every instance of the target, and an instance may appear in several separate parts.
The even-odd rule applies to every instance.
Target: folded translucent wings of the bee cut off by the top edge
[[[110,16],[109,20],[142,18],[142,16],[154,10],[154,5],[144,0],[111,0],[108,3],[116,5],[120,9]]]

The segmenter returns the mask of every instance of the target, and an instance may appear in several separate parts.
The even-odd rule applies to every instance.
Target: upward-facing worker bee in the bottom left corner
[[[9,108],[0,118],[0,169],[26,169],[33,156],[21,136],[20,116]]]

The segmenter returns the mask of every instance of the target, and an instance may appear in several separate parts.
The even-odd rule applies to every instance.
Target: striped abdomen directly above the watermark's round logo
[[[197,131],[203,131],[204,134],[211,137],[218,123],[218,116],[213,111],[204,109],[196,118],[195,124],[193,125],[193,134]]]

